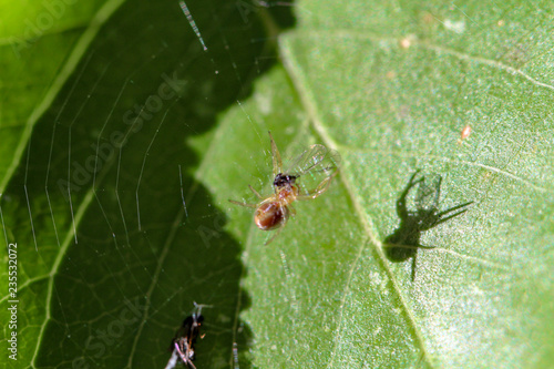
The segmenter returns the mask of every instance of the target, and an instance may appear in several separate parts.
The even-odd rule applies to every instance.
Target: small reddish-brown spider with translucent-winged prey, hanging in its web
[[[257,204],[240,203],[229,199],[230,203],[255,208],[254,223],[261,230],[279,229],[266,245],[269,244],[287,223],[290,215],[296,215],[291,204],[295,201],[314,199],[325,193],[337,175],[340,166],[340,154],[324,145],[311,145],[300,153],[288,166],[283,170],[279,150],[275,144],[271,132],[274,194],[264,197],[253,186],[250,191],[260,199]],[[302,185],[299,183],[306,182]]]

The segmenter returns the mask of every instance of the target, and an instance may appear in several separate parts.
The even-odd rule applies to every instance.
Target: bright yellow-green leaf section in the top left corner
[[[75,6],[72,0],[53,0],[0,4],[0,194],[21,160],[37,120],[121,2],[99,0]]]

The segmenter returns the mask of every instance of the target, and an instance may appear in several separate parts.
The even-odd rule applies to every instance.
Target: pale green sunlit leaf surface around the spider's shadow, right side
[[[256,89],[245,110],[257,129],[239,111],[227,123],[214,163],[239,158],[206,178],[222,204],[227,177],[237,199],[255,201],[248,183],[269,194],[267,130],[281,148],[318,142],[342,154],[340,181],[298,204],[271,244],[252,224],[237,233],[255,367],[550,366],[552,7],[501,7],[298,3],[301,27],[280,39],[288,76]],[[264,163],[260,183],[250,171]],[[438,212],[473,204],[421,233],[435,248],[417,250],[412,270],[384,240],[417,170],[442,177]]]

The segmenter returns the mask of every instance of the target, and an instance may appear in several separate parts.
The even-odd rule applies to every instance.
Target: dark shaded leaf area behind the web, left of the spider
[[[211,306],[197,367],[239,366],[240,245],[194,176],[218,115],[275,62],[266,27],[290,25],[288,6],[126,3],[101,29],[1,195],[21,361],[164,367],[197,301]]]

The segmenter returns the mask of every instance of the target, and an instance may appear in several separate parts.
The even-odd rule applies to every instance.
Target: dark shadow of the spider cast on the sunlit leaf
[[[468,202],[442,212],[439,211],[442,177],[432,175],[430,176],[431,181],[425,183],[424,175],[416,180],[419,173],[420,171],[417,171],[412,174],[408,185],[397,199],[397,214],[400,217],[400,226],[387,236],[383,242],[384,255],[390,262],[403,263],[410,258],[412,259],[412,281],[416,280],[418,249],[432,249],[437,247],[421,245],[422,233],[462,215],[468,211],[466,206],[473,203]],[[416,186],[414,209],[410,211],[408,209],[407,198]]]

